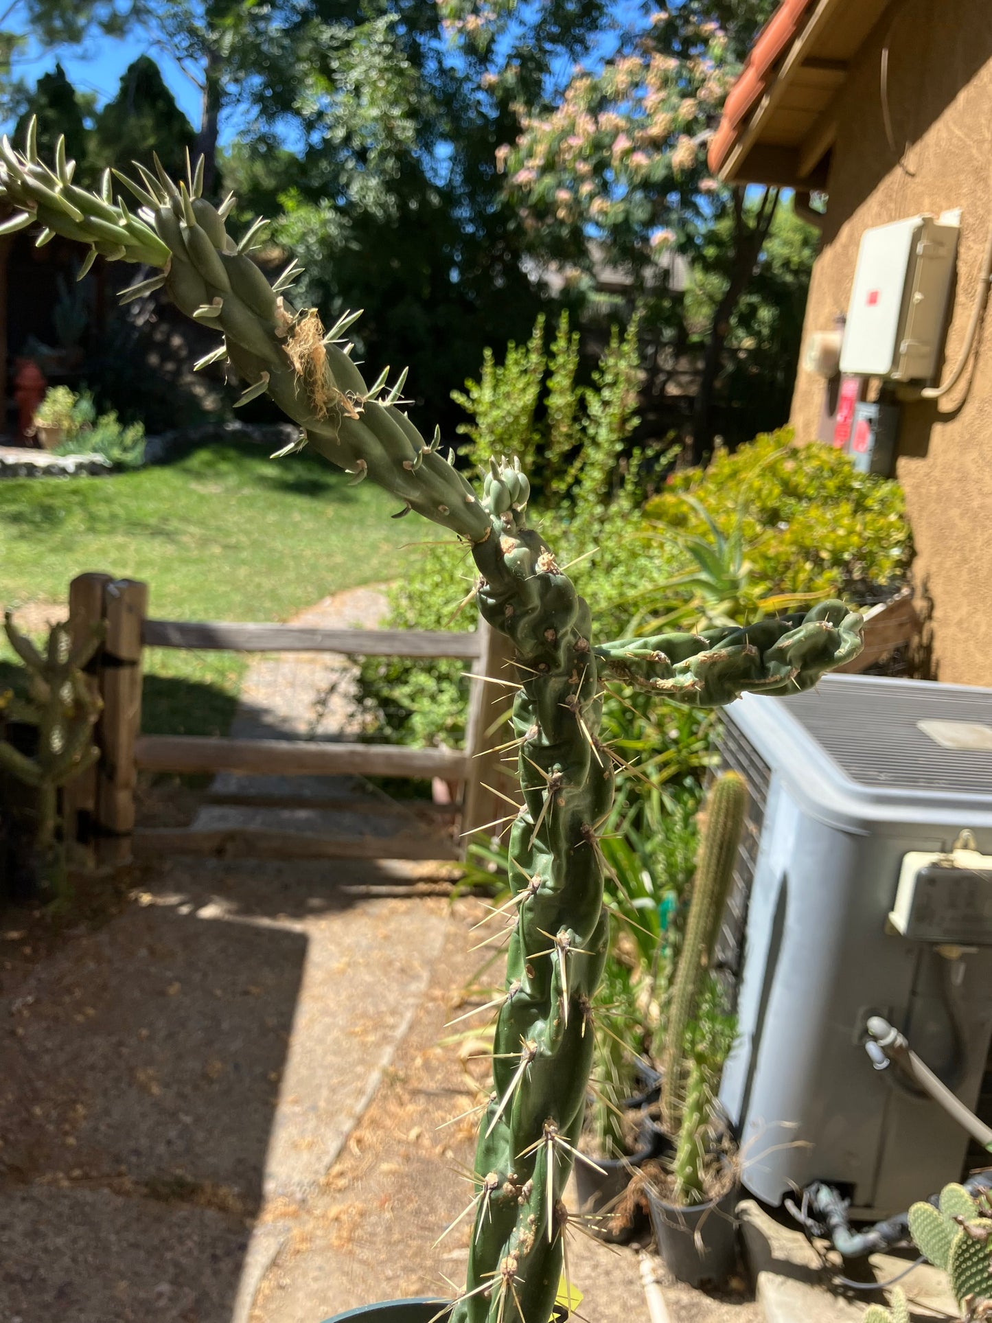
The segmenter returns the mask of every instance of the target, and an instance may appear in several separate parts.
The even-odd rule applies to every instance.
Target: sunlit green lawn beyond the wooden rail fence
[[[306,450],[270,460],[250,445],[112,478],[4,480],[0,603],[63,602],[75,574],[106,570],[144,579],[153,617],[284,620],[328,593],[394,578],[401,546],[430,536],[390,520],[395,501],[370,483],[348,483]],[[149,648],[143,729],[224,733],[245,664]]]

